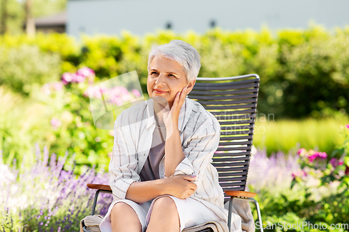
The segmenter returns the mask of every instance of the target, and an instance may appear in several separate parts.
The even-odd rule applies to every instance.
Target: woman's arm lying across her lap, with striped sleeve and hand
[[[131,115],[130,111],[121,113],[114,125],[114,146],[109,165],[113,195],[117,199],[130,199],[138,203],[144,203],[163,194],[177,196],[180,199],[189,197],[197,188],[191,183],[195,176],[140,182],[140,176],[135,171],[138,165],[135,144],[127,121]]]

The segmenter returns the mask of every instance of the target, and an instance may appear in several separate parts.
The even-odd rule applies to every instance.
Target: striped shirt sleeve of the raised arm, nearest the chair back
[[[216,118],[202,123],[191,137],[188,146],[184,148],[184,160],[178,164],[172,176],[195,175],[195,181],[200,181],[218,148],[220,137],[221,126]]]

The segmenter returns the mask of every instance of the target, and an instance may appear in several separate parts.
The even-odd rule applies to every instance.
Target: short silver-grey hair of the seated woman
[[[165,45],[154,45],[151,48],[148,60],[148,71],[151,61],[158,54],[165,56],[167,59],[177,61],[186,74],[186,80],[190,82],[196,79],[201,67],[200,55],[196,49],[182,40],[172,40]]]

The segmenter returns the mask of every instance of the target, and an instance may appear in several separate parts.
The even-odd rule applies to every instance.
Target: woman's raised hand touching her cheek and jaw
[[[174,102],[170,110],[166,108],[163,109],[163,122],[165,123],[165,126],[167,128],[178,127],[179,112],[181,111],[181,106],[186,100],[186,89],[187,87],[184,86],[181,92],[178,92],[176,94],[176,97],[174,98]]]

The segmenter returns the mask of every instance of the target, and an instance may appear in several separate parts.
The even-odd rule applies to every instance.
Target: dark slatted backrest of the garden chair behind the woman
[[[223,190],[245,190],[259,82],[260,77],[255,74],[198,77],[188,95],[216,116],[221,124],[221,139],[212,164],[218,171]]]

